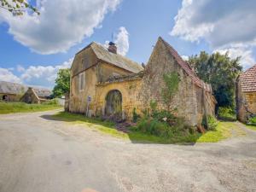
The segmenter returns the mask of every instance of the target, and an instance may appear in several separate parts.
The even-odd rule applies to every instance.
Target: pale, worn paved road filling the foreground
[[[1,192],[256,191],[256,131],[194,146],[131,143],[50,113],[0,115]]]

